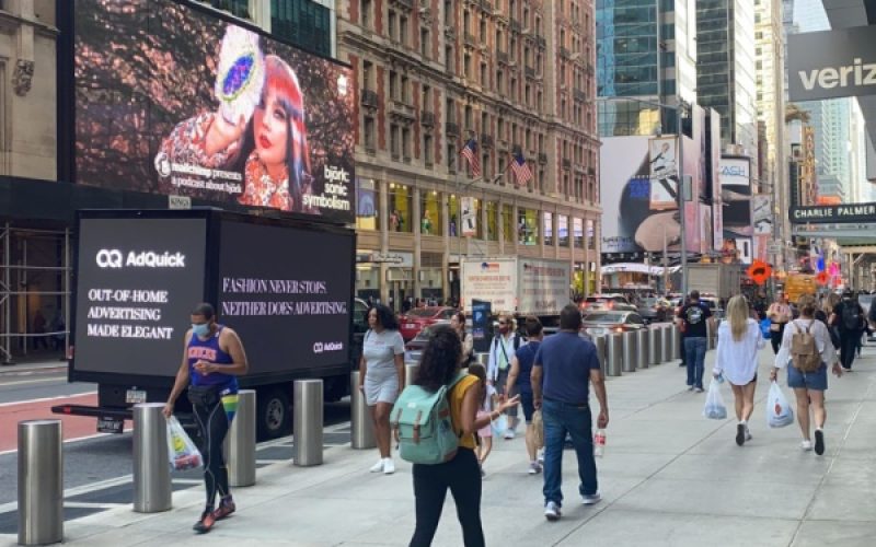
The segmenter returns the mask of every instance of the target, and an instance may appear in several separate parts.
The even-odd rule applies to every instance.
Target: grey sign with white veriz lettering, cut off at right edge
[[[791,34],[791,101],[876,94],[876,26]]]

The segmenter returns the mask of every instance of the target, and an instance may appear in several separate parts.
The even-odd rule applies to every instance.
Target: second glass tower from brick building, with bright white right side
[[[696,97],[721,114],[721,141],[737,144],[757,173],[754,7],[742,0],[696,2]]]

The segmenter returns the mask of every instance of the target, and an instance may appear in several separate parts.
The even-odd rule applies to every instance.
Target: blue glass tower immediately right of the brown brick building
[[[597,93],[602,137],[678,132],[671,108],[696,102],[693,0],[598,0]],[[637,101],[612,101],[613,98]],[[638,102],[641,101],[641,102]]]

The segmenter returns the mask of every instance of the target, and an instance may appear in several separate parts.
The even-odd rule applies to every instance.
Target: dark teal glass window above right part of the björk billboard
[[[216,3],[217,0],[214,0]],[[220,0],[228,4],[229,0]],[[249,16],[249,0],[231,0],[240,4]],[[332,55],[332,12],[311,0],[270,0],[270,33],[296,46],[324,57]]]

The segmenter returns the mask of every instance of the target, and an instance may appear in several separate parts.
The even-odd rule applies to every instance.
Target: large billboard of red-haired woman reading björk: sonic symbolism
[[[172,0],[77,0],[76,182],[355,220],[350,69]]]

